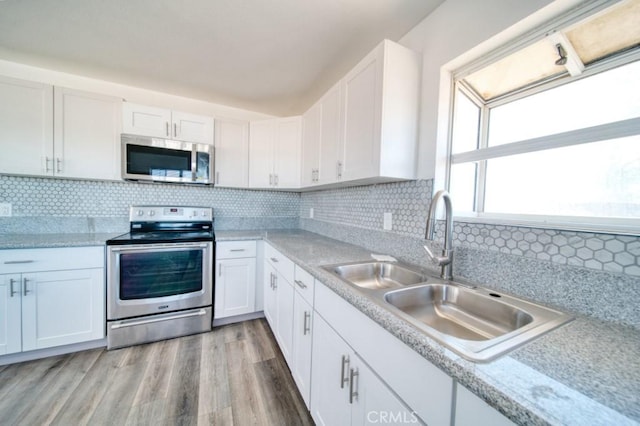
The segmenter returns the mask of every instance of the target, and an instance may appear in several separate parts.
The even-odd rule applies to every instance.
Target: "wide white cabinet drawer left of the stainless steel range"
[[[104,247],[0,250],[0,267],[7,274],[104,268]]]

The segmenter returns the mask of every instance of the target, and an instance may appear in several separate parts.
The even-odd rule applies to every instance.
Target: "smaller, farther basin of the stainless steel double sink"
[[[355,263],[328,269],[345,281],[367,289],[397,288],[427,280],[419,271],[389,262]]]

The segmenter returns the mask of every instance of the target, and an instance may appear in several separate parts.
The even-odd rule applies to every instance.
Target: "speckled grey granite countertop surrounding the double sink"
[[[220,231],[218,241],[264,238],[360,311],[518,424],[640,424],[640,331],[577,317],[493,362],[467,361],[370,302],[320,265],[370,251],[306,231]]]

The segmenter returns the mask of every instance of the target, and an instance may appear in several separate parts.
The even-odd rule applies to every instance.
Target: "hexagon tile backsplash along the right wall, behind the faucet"
[[[432,185],[431,180],[418,180],[303,193],[300,217],[309,220],[313,208],[313,220],[382,230],[388,212],[393,219],[390,232],[424,238]],[[637,236],[456,222],[454,244],[640,276]]]

